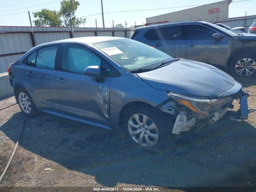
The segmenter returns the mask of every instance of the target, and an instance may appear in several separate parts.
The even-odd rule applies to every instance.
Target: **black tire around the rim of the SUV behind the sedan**
[[[236,68],[236,64],[237,64],[238,61],[240,61],[240,63],[242,63],[242,64],[244,63],[243,60],[242,60],[243,58],[250,58],[252,60],[252,62],[256,62],[256,54],[243,53],[243,54],[239,54],[238,56],[235,56],[231,60],[230,66],[229,66],[229,70],[230,70],[230,73],[232,74],[232,76],[234,76],[234,77],[254,77],[254,76],[256,76],[256,70],[254,70],[254,72],[252,74],[247,75],[247,74],[249,74],[249,72],[246,73],[247,68],[244,68],[244,70],[242,71],[242,74],[238,74],[236,72],[236,69],[237,69],[238,72],[239,72],[239,70],[243,69],[242,67],[241,68],[240,67]],[[250,70],[253,70],[253,68],[250,68]],[[250,71],[250,72],[252,72],[252,71]]]

